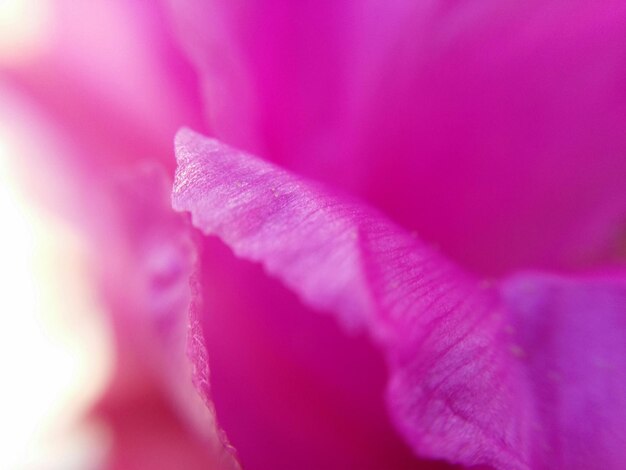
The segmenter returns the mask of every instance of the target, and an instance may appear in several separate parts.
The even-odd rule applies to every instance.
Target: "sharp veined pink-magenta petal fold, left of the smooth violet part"
[[[177,157],[177,210],[382,344],[391,408],[416,451],[524,468],[524,387],[499,354],[488,291],[374,212],[271,164],[187,130]]]

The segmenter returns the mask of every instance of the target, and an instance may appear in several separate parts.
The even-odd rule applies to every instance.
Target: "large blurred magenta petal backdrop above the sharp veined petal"
[[[624,2],[170,3],[226,143],[478,272],[619,256]]]

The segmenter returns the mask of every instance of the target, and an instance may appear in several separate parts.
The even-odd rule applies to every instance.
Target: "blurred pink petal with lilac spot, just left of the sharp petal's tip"
[[[116,210],[111,221],[115,229],[96,234],[96,266],[116,329],[120,358],[109,395],[114,402],[124,402],[126,395],[161,394],[161,401],[170,401],[170,413],[178,415],[181,428],[186,429],[188,445],[196,442],[196,447],[203,448],[205,465],[237,469],[215,420],[208,394],[206,354],[197,345],[195,303],[199,299],[192,301],[191,289],[196,287],[190,286],[195,246],[188,224],[171,210],[169,188],[163,171],[150,164],[128,169],[108,188]],[[167,414],[166,405],[156,411],[159,409]],[[134,416],[129,413],[129,420]],[[123,418],[117,417],[117,421]],[[150,421],[139,420],[134,425],[139,424],[149,427]],[[144,431],[158,441],[155,429],[136,432]],[[167,440],[166,435],[162,438]],[[181,437],[183,445],[187,444]]]

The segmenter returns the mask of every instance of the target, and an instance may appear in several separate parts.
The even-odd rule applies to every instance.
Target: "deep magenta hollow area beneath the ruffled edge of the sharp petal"
[[[369,338],[345,335],[215,237],[201,274],[210,398],[243,468],[450,468],[416,459],[394,429]]]

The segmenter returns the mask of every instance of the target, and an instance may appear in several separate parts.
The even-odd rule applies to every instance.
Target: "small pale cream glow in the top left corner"
[[[0,0],[0,64],[33,60],[49,44],[50,0]]]

